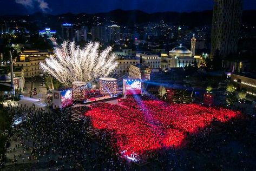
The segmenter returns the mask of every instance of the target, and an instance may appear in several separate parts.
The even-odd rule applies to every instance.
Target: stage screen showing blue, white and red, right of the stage
[[[141,80],[126,80],[126,95],[141,94]]]

